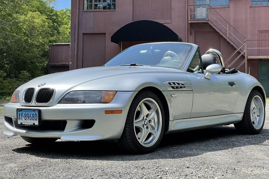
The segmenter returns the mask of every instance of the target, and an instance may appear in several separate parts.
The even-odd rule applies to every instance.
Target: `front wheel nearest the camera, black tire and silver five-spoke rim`
[[[151,106],[150,108],[150,105],[147,106],[147,103],[149,103],[150,105],[152,104],[153,106]],[[143,105],[144,107],[147,106],[147,108],[150,108],[150,110],[140,109],[140,107],[143,107]],[[157,108],[155,111],[152,110],[155,109],[154,106]],[[149,113],[148,115],[145,116],[144,111],[146,112],[153,111],[154,114],[152,112],[151,114]],[[154,116],[154,119],[150,116]],[[136,120],[135,118],[139,120]],[[139,122],[141,120],[142,122]],[[135,127],[136,124],[141,125],[140,126],[141,128],[137,126]],[[152,125],[154,125],[155,128],[150,127]],[[158,96],[151,91],[141,91],[138,94],[136,94],[130,105],[122,136],[117,143],[119,147],[130,153],[145,154],[153,152],[159,146],[162,140],[164,127],[165,127],[164,109]],[[155,133],[153,132],[154,131],[153,129],[156,129]],[[141,130],[143,131],[143,133],[141,132]],[[144,134],[144,132],[146,137],[142,135]],[[150,143],[150,141],[152,142]]]

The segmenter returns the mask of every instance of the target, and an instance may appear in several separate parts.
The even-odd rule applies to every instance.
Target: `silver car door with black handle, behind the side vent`
[[[189,73],[193,87],[191,118],[233,113],[238,95],[238,85],[230,74]]]

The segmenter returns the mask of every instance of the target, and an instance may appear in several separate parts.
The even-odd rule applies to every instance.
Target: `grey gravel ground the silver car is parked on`
[[[165,135],[150,154],[122,153],[115,143],[56,141],[36,147],[3,135],[0,106],[0,178],[269,178],[269,102],[259,135],[233,125]]]

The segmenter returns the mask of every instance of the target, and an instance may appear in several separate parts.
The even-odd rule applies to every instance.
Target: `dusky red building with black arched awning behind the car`
[[[101,66],[139,43],[182,41],[201,54],[219,50],[226,67],[250,73],[269,94],[268,17],[269,0],[71,0],[70,59],[57,66],[51,53],[59,67],[51,72]]]

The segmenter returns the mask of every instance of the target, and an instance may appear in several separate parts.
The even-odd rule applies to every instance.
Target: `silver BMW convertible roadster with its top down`
[[[234,124],[258,134],[265,90],[225,69],[218,50],[191,43],[132,46],[100,67],[35,78],[4,106],[4,134],[30,143],[116,141],[131,153],[155,150],[167,133]]]

